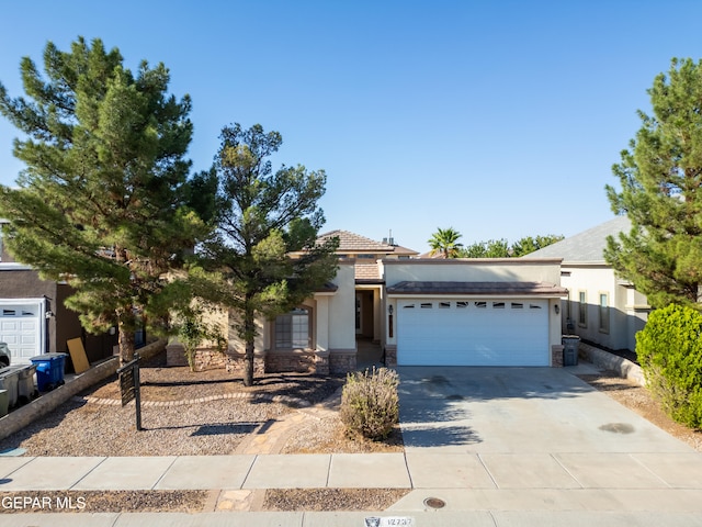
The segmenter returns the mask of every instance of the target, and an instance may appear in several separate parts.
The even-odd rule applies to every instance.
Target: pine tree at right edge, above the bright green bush
[[[702,283],[702,61],[673,59],[648,90],[653,115],[613,167],[621,191],[607,187],[630,233],[610,237],[604,256],[652,305],[700,307]]]

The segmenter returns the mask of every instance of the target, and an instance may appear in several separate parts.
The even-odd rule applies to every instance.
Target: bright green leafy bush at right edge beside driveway
[[[636,334],[646,385],[677,422],[702,428],[702,314],[670,304]]]

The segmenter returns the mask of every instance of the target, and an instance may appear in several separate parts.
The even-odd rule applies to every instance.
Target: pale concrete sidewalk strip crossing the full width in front
[[[592,490],[654,495],[672,490],[697,493],[693,509],[702,511],[702,453],[0,457],[0,492],[324,487],[458,490],[475,496],[526,490],[571,495]]]

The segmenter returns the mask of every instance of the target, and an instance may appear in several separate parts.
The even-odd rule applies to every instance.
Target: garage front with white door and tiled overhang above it
[[[541,281],[404,280],[387,293],[398,366],[547,367],[567,291]]]

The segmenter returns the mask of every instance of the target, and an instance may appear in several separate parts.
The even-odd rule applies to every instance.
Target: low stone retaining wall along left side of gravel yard
[[[166,341],[157,340],[137,350],[143,359],[150,359],[163,350]],[[114,375],[120,368],[120,357],[112,357],[95,363],[89,370],[68,379],[66,384],[50,392],[44,393],[29,404],[9,413],[0,418],[0,439],[21,430],[30,423],[56,410],[57,406],[68,401],[73,395],[97,384],[98,382]]]

